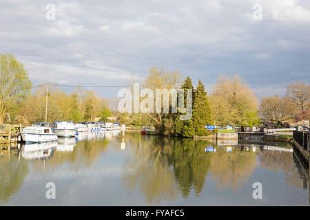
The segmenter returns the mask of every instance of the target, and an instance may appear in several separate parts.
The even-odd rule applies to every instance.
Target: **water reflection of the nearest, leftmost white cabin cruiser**
[[[54,155],[56,142],[25,144],[21,148],[21,157],[24,159],[49,159]]]

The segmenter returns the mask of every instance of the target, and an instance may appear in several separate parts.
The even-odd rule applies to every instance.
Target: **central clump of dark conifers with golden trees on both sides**
[[[242,78],[221,75],[209,94],[201,80],[198,80],[195,88],[189,76],[185,80],[181,79],[182,76],[178,71],[166,72],[163,68],[152,67],[143,82],[143,87],[154,91],[155,89],[184,89],[184,96],[178,96],[178,99],[183,99],[185,108],[187,89],[192,89],[192,117],[189,120],[180,120],[179,116],[183,113],[178,108],[176,113],[164,111],[119,113],[121,122],[134,120],[133,124],[138,126],[153,124],[156,130],[164,135],[181,137],[209,135],[211,132],[205,129],[207,124],[253,126],[260,122],[257,110],[258,99]],[[184,82],[178,86],[180,80]],[[155,102],[156,100],[154,105]],[[171,108],[172,103],[169,104]]]

